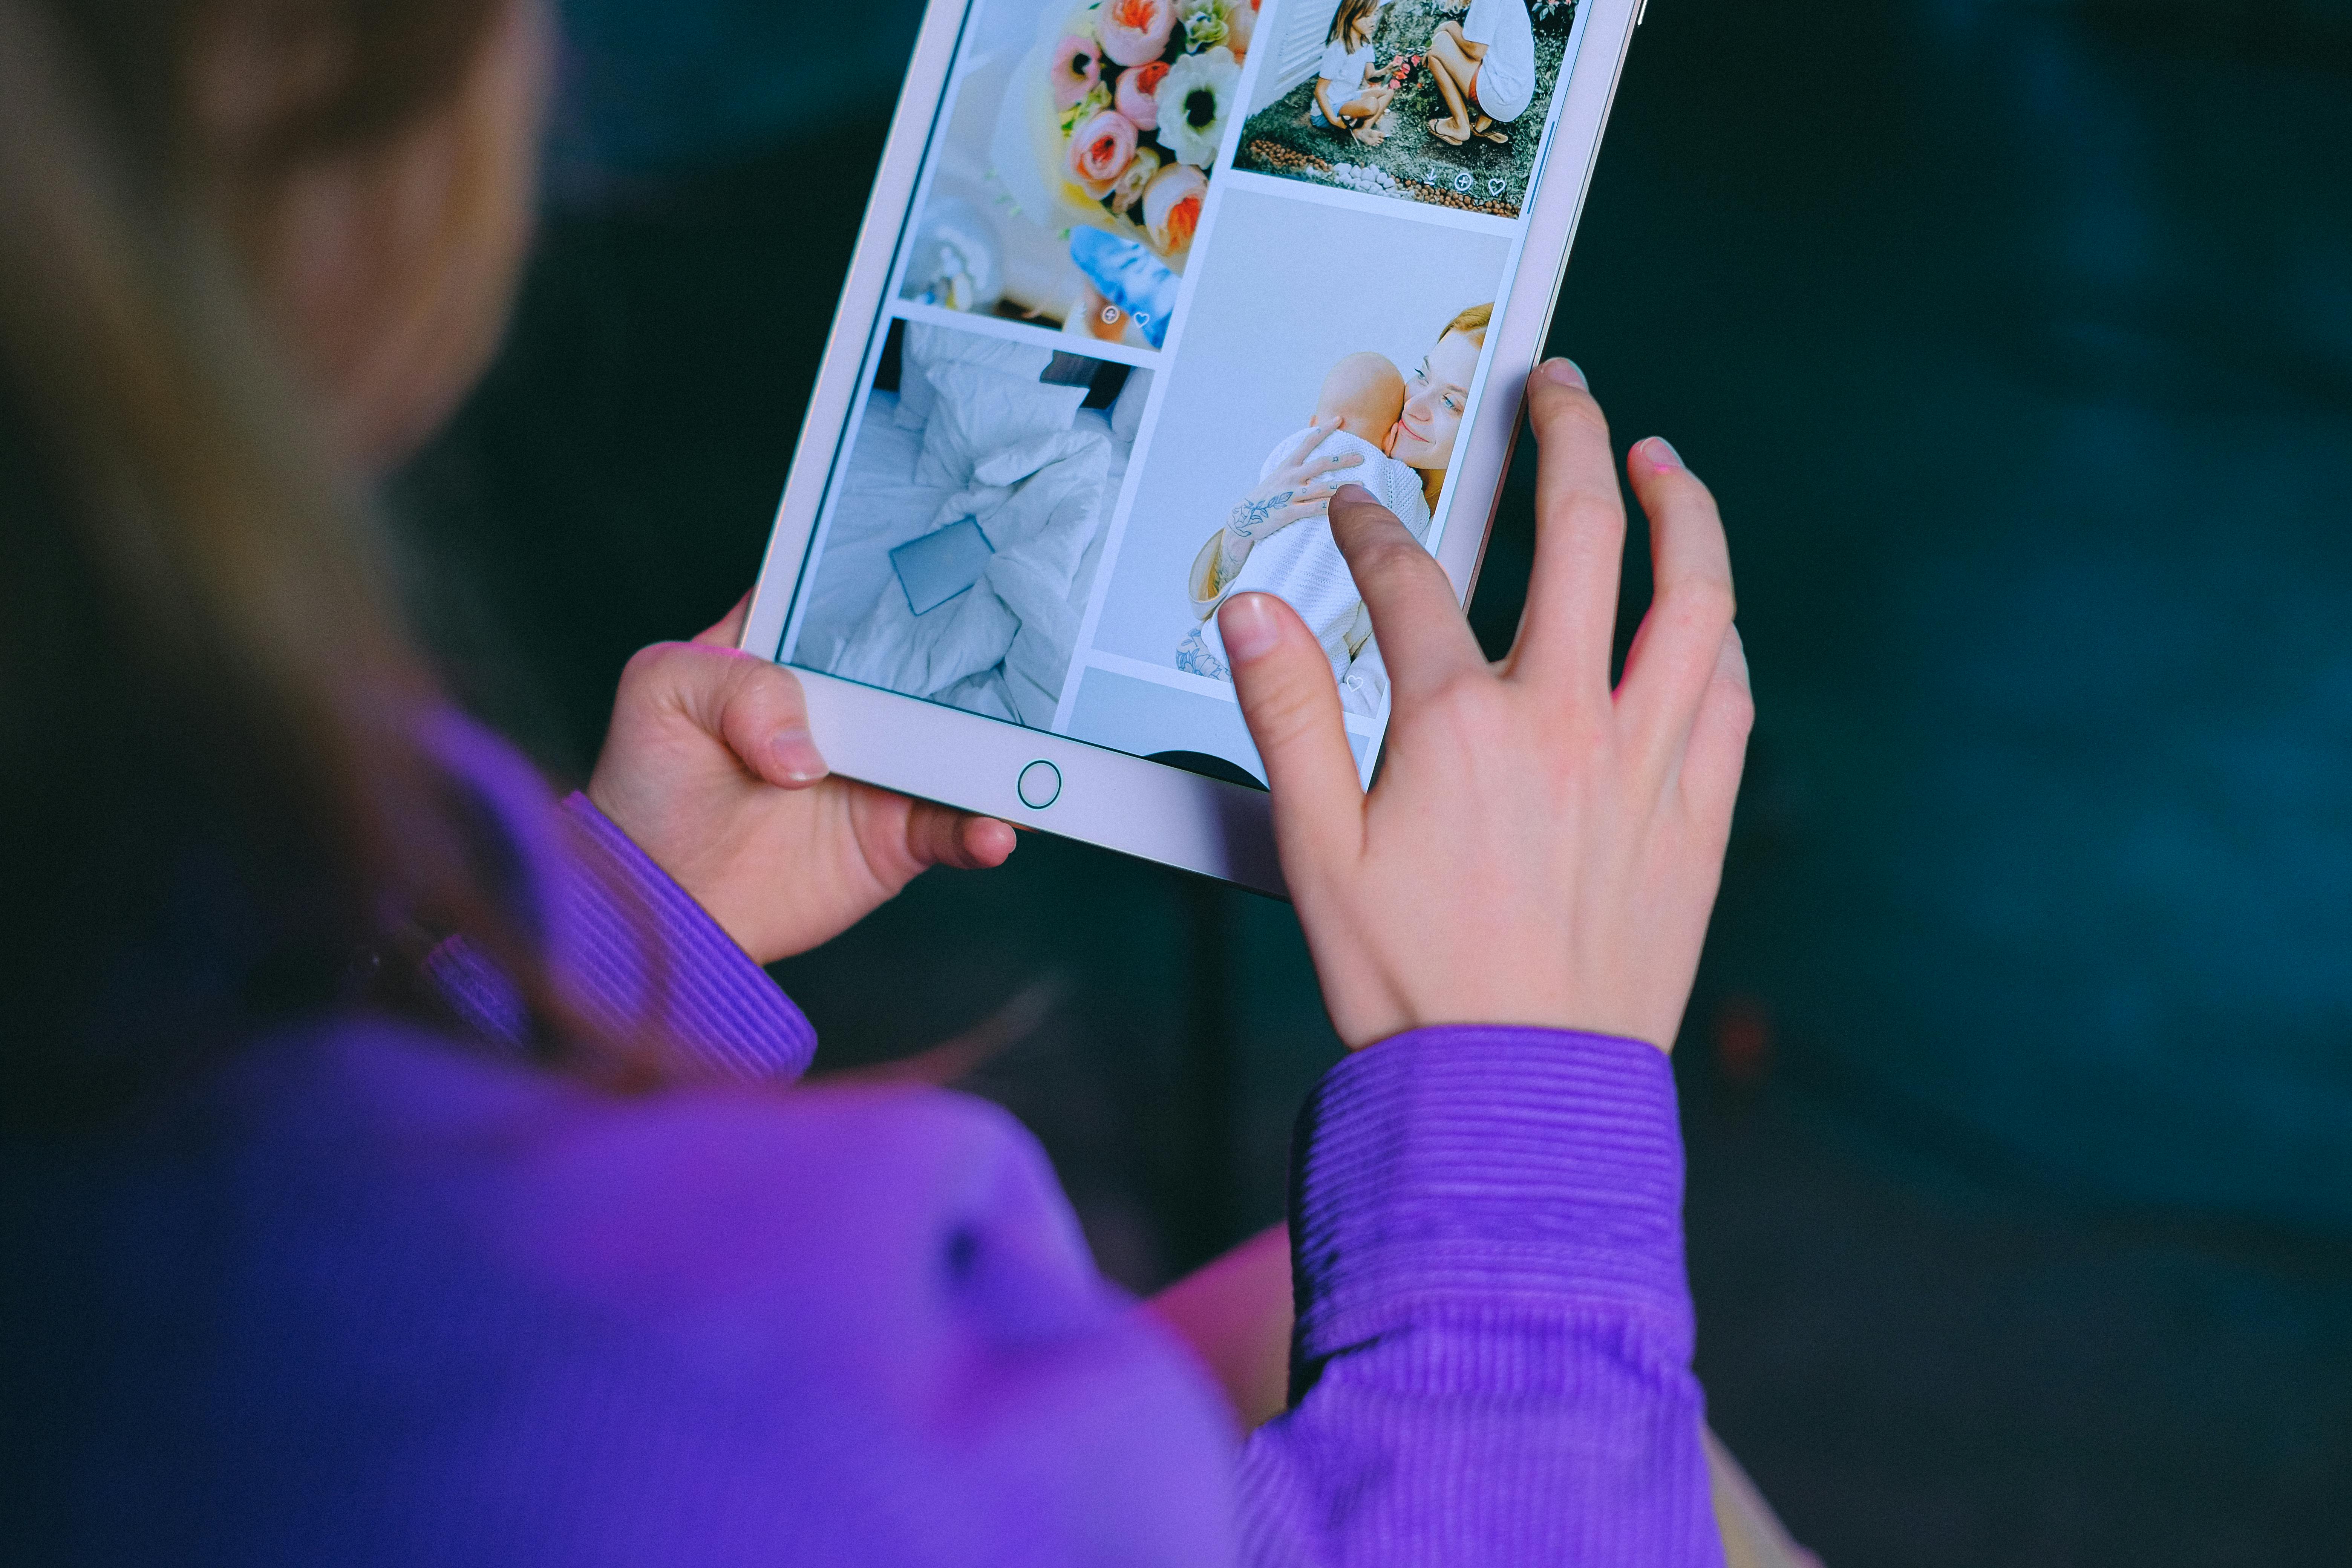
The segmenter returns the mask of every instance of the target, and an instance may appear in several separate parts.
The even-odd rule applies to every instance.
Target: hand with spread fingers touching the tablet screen
[[[1672,447],[1632,449],[1656,597],[1611,689],[1625,508],[1609,425],[1566,360],[1529,378],[1529,411],[1536,567],[1496,665],[1392,512],[1362,489],[1331,503],[1395,691],[1369,795],[1296,611],[1251,592],[1218,616],[1350,1048],[1446,1023],[1672,1048],[1698,971],[1755,712],[1724,529]]]

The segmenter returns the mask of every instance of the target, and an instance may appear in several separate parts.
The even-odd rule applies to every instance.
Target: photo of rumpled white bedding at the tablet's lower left
[[[790,661],[1049,729],[1150,371],[891,334]]]

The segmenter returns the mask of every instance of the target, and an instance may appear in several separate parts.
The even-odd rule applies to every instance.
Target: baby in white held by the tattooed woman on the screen
[[[1414,538],[1425,541],[1430,531],[1430,503],[1421,489],[1421,470],[1406,468],[1381,451],[1381,442],[1402,414],[1404,376],[1397,374],[1397,367],[1385,355],[1348,355],[1324,376],[1322,393],[1315,400],[1315,425],[1294,430],[1275,442],[1275,449],[1265,454],[1265,463],[1258,468],[1258,480],[1270,477],[1284,461],[1310,463],[1341,454],[1357,456],[1362,463],[1355,468],[1334,468],[1317,482],[1334,487],[1362,484],[1371,491],[1374,501],[1392,510],[1411,529]],[[1331,421],[1338,421],[1338,428],[1301,454],[1301,442]],[[1240,569],[1228,576],[1221,569],[1225,564],[1221,555],[1230,559],[1232,543],[1230,534],[1218,529],[1195,564],[1190,597],[1195,611],[1202,614],[1202,623],[1185,632],[1176,646],[1176,668],[1230,682],[1232,670],[1225,661],[1225,639],[1216,628],[1216,609],[1237,592],[1270,592],[1296,609],[1298,618],[1315,632],[1315,639],[1322,642],[1324,654],[1331,658],[1331,677],[1341,682],[1341,698],[1348,708],[1371,712],[1378,703],[1376,689],[1355,691],[1355,701],[1348,701],[1348,668],[1371,639],[1371,616],[1364,614],[1364,599],[1355,590],[1355,578],[1348,576],[1348,562],[1341,557],[1338,543],[1331,538],[1331,517],[1317,512],[1315,517],[1301,517],[1272,534],[1263,534],[1249,543]],[[1357,684],[1362,686],[1364,682]],[[1385,682],[1381,684],[1385,686]]]

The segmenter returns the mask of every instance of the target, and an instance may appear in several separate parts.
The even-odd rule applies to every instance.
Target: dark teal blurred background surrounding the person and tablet
[[[400,482],[557,776],[753,578],[915,24],[567,5]],[[1552,348],[1722,496],[1762,708],[1677,1048],[1717,1429],[1832,1566],[2352,1561],[2352,0],[1653,0]],[[1284,905],[1054,839],[779,973],[821,1067],[960,1044],[1138,1291],[1338,1056]]]

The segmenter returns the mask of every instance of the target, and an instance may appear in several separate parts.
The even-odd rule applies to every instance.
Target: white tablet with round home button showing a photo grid
[[[835,771],[1279,896],[1216,607],[1298,609],[1369,780],[1287,475],[1468,599],[1637,5],[931,0],[743,632]]]

